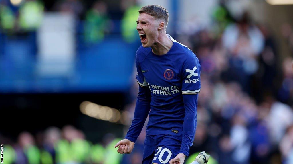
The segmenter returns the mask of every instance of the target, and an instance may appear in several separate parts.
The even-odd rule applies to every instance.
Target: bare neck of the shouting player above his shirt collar
[[[159,35],[156,42],[151,46],[151,50],[156,55],[164,55],[168,53],[173,45],[173,41],[167,36],[166,32]]]

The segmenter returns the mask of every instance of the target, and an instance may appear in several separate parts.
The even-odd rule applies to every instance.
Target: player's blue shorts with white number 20
[[[166,164],[180,150],[181,139],[172,135],[146,135],[142,164]]]

